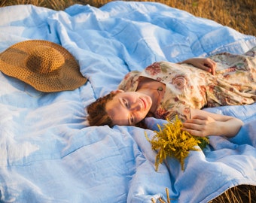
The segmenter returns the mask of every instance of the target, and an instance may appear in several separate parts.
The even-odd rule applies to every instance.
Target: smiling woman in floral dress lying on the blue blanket
[[[145,126],[145,117],[183,122],[191,135],[233,137],[242,121],[201,110],[256,101],[256,47],[184,62],[154,62],[131,71],[117,90],[87,107],[91,126]]]

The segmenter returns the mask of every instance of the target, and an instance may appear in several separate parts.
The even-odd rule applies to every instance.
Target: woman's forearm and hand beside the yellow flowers
[[[191,118],[183,123],[183,129],[195,136],[233,137],[243,125],[242,120],[235,117],[213,114],[203,110],[191,109],[190,114]]]

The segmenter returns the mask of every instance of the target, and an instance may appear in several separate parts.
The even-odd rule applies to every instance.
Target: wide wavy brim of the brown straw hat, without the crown
[[[26,65],[32,47],[48,46],[58,50],[65,59],[58,74],[40,74]],[[73,90],[87,82],[80,72],[78,62],[68,50],[50,41],[30,40],[14,44],[0,54],[0,70],[11,77],[16,77],[41,92],[59,92]]]

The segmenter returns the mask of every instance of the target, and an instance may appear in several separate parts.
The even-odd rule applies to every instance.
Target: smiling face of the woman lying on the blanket
[[[133,126],[146,117],[152,105],[150,96],[140,92],[116,92],[117,95],[105,106],[114,125]]]

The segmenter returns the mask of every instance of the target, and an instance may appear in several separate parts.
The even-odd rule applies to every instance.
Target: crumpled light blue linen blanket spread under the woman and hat
[[[61,44],[89,80],[74,91],[41,93],[0,73],[1,202],[151,202],[166,198],[166,187],[172,202],[207,202],[232,186],[256,185],[256,104],[208,109],[245,126],[235,138],[211,137],[206,150],[190,152],[184,171],[175,159],[154,170],[144,129],[91,127],[84,111],[128,71],[244,53],[256,45],[254,36],[149,2],[0,8],[0,51],[29,39]],[[147,121],[152,129],[163,122]]]

